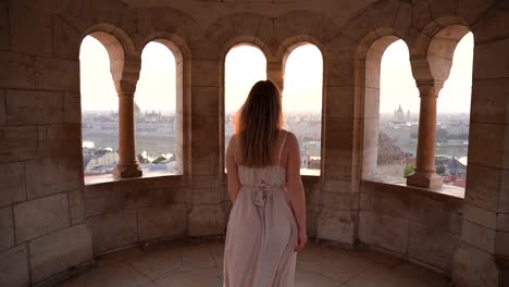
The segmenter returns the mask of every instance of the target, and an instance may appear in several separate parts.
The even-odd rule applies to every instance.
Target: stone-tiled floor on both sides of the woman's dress
[[[97,260],[91,270],[59,287],[220,287],[223,247],[219,240],[194,239],[131,248]],[[295,287],[333,286],[446,287],[448,282],[373,251],[308,244],[297,257]]]

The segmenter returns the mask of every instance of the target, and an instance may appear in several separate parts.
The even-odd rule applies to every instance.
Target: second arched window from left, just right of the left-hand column
[[[177,71],[175,57],[165,41],[147,43],[136,85],[136,154],[144,174],[182,174],[176,152]]]

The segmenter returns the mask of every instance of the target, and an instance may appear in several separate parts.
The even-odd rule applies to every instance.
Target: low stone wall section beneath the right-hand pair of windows
[[[462,215],[461,197],[363,182],[359,240],[449,274],[460,241]]]

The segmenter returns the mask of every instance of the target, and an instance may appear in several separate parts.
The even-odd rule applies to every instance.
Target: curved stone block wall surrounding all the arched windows
[[[92,252],[224,234],[225,54],[258,46],[281,85],[301,42],[324,59],[322,172],[303,177],[310,235],[392,250],[462,286],[507,285],[508,21],[504,0],[0,1],[0,285],[41,283]],[[465,199],[362,182],[367,51],[404,39],[415,79],[432,79],[430,42],[455,25],[475,40]],[[121,88],[136,85],[148,41],[182,51],[183,176],[85,185],[78,54],[94,33],[121,43]]]

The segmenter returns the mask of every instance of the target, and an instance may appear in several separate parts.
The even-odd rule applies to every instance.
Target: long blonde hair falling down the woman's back
[[[263,167],[272,163],[271,151],[283,128],[281,93],[271,80],[252,86],[235,115],[243,165]]]

